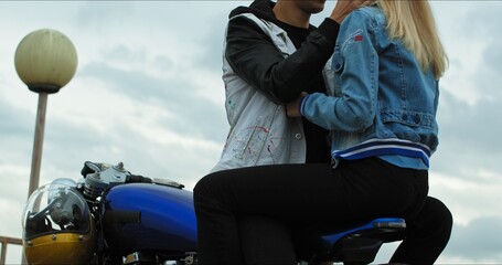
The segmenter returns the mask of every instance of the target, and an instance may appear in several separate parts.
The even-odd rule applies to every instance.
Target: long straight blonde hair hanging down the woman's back
[[[448,66],[432,10],[427,0],[376,0],[387,18],[387,34],[415,54],[423,71],[432,67],[437,80]]]

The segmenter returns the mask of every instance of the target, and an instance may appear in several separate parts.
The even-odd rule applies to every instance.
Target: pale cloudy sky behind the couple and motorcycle
[[[28,199],[39,96],[13,63],[26,34],[61,31],[78,54],[74,78],[49,96],[41,184],[78,179],[87,160],[122,161],[133,173],[191,190],[216,162],[226,137],[222,39],[227,13],[248,3],[0,1],[0,235],[21,236]],[[430,194],[455,215],[438,263],[502,264],[502,2],[431,4],[450,67],[440,83]],[[19,262],[20,247],[10,245],[8,263]]]

